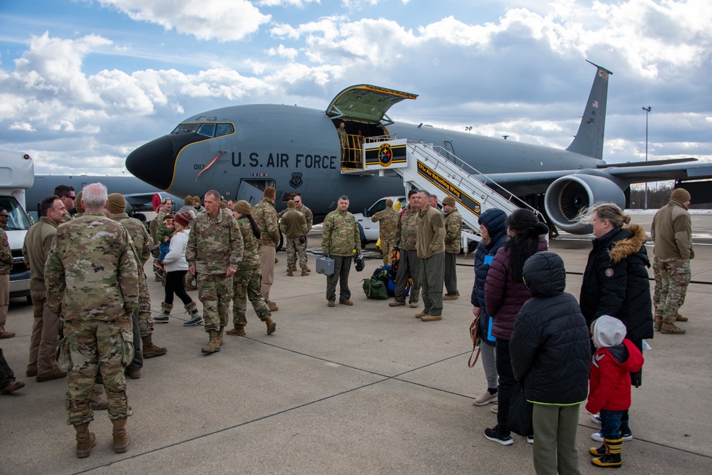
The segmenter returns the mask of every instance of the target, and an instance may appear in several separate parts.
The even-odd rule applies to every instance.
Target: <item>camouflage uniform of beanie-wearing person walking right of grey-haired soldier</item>
[[[267,303],[259,291],[262,277],[259,271],[259,259],[257,259],[257,248],[259,246],[257,238],[252,234],[252,226],[250,226],[247,216],[240,216],[237,219],[237,224],[244,243],[244,250],[242,251],[242,261],[240,261],[237,273],[234,275],[232,323],[235,328],[241,328],[247,325],[245,313],[247,312],[248,298],[259,320],[264,322],[267,317],[272,316],[272,313],[269,313]]]

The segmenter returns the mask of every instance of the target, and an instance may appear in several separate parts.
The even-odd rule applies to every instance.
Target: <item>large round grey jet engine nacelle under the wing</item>
[[[614,203],[621,209],[626,205],[623,191],[612,179],[591,174],[572,174],[550,184],[544,197],[549,219],[562,231],[589,234],[590,224],[577,219],[582,209],[596,203]]]

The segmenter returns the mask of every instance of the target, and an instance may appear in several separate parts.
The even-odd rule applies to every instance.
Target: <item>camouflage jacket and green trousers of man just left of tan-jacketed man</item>
[[[401,251],[398,272],[396,272],[396,302],[406,301],[408,279],[413,279],[408,301],[418,303],[418,298],[421,296],[421,260],[418,259],[416,251],[416,219],[418,219],[418,209],[411,210],[411,205],[408,205],[403,209],[398,220],[396,238],[393,241],[393,246]]]

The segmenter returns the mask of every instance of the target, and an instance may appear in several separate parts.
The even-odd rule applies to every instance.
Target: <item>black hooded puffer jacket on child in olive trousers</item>
[[[510,340],[515,378],[531,402],[583,402],[591,343],[576,298],[564,292],[564,261],[553,252],[534,254],[524,264],[524,278],[532,298],[517,315]]]

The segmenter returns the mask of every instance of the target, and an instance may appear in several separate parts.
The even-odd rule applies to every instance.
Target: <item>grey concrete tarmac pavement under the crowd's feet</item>
[[[651,218],[635,215],[634,222],[649,229]],[[688,288],[682,308],[688,333],[656,332],[648,342],[643,386],[633,390],[634,440],[623,445],[626,473],[712,472],[712,216],[693,216],[693,229],[699,283]],[[318,248],[320,237],[313,231],[310,246]],[[564,258],[574,296],[590,239],[562,235],[550,247]],[[286,254],[277,257],[273,335],[249,308],[247,336],[226,335],[220,353],[203,355],[207,333],[182,326],[187,315],[177,298],[170,323],[155,325],[154,343],[168,353],[145,360],[143,377],[128,380],[134,414],[125,454],[113,453],[110,421],[97,412],[90,426],[97,445],[88,458],[76,458],[66,380],[25,377],[32,308],[12,300],[6,327],[17,336],[0,346],[26,387],[0,396],[0,474],[533,473],[526,439],[514,436],[509,447],[488,441],[483,431],[496,416],[491,405],[473,405],[486,387],[481,363],[467,365],[473,255],[458,259],[460,298],[445,301],[443,320],[429,323],[414,318],[422,307],[366,298],[361,279],[381,259],[367,259],[361,273],[351,270],[354,306],[328,308],[326,278],[288,277]],[[314,264],[310,256],[312,270]],[[149,288],[158,313],[163,289],[153,276]],[[190,295],[197,301],[197,292]],[[588,455],[599,445],[590,438],[598,431],[582,408],[584,474],[601,471]]]

